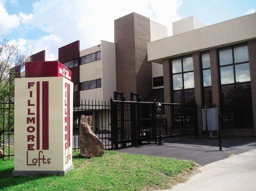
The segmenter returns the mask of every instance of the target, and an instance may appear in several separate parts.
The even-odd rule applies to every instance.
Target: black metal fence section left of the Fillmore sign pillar
[[[10,100],[0,102],[0,149],[3,160],[14,156],[14,104]]]

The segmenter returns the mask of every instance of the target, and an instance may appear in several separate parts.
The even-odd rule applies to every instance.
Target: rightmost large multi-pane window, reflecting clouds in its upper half
[[[219,71],[223,128],[253,128],[247,44],[220,48]]]

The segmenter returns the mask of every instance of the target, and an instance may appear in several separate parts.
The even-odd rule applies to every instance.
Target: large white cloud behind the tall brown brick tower
[[[47,49],[46,60],[51,60],[57,58],[59,47],[76,40],[80,40],[81,50],[100,40],[114,42],[114,20],[131,12],[167,26],[171,35],[172,22],[180,19],[177,9],[181,3],[181,0],[38,0],[33,4],[33,12],[19,13],[19,31],[40,29],[49,34],[36,40],[27,39],[27,45],[38,51]]]

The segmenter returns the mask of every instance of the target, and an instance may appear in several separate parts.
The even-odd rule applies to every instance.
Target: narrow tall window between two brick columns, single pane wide
[[[210,74],[210,53],[209,51],[201,52],[201,68],[202,68],[202,98],[203,105],[212,107],[212,91],[211,91],[211,74]]]

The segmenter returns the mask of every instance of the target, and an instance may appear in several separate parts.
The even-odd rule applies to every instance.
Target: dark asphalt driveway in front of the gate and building
[[[165,145],[145,145],[140,147],[123,148],[116,150],[121,153],[141,154],[150,156],[172,157],[192,160],[204,166],[233,154],[240,154],[256,149],[256,137],[224,137],[222,149],[219,151],[219,139],[195,139],[190,137],[177,137],[164,139]]]

